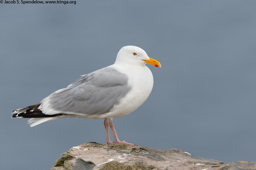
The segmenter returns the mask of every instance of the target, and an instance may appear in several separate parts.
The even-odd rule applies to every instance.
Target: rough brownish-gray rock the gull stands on
[[[96,142],[74,146],[55,162],[51,170],[256,170],[256,162],[224,162],[193,157],[180,149]]]

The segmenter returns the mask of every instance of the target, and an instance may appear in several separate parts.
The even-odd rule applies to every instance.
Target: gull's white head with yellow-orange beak
[[[146,63],[154,65],[156,67],[161,67],[161,64],[158,61],[149,58],[147,53],[143,49],[136,46],[124,46],[117,53],[117,57],[115,60],[115,64],[145,66]]]

